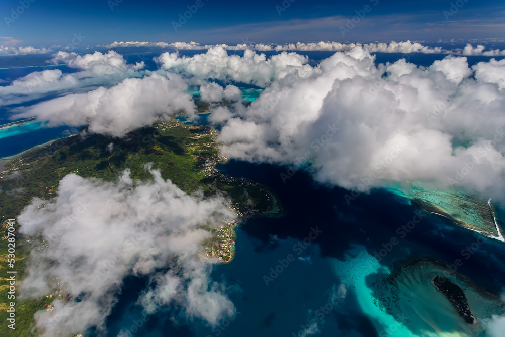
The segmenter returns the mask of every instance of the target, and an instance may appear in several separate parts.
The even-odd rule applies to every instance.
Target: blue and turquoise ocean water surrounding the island
[[[333,53],[303,54],[315,64]],[[376,61],[394,62],[399,57],[402,55],[378,53]],[[443,57],[409,55],[410,62],[422,66]],[[127,58],[134,62],[140,56],[132,54]],[[469,62],[472,65],[488,59],[470,57]],[[149,61],[148,68],[153,67]],[[75,71],[65,66],[58,68]],[[9,85],[15,78],[43,69],[46,67],[4,67],[0,69],[0,79],[7,81],[2,85]],[[251,101],[259,93],[244,90],[244,96],[248,95]],[[9,123],[9,117],[18,108],[3,107],[0,123]],[[75,129],[43,128],[33,122],[0,130],[0,157],[72,132]],[[399,235],[398,228],[412,221],[419,210],[390,191],[375,190],[347,203],[348,191],[319,185],[305,172],[297,172],[284,183],[280,177],[286,172],[284,167],[232,160],[219,169],[267,185],[286,210],[282,218],[252,218],[237,228],[234,260],[214,267],[213,279],[225,280],[229,286],[236,317],[215,328],[197,319],[175,324],[171,318],[179,312],[166,308],[142,320],[136,300],[147,279],[129,277],[107,319],[109,336],[117,336],[124,329],[135,336],[149,337],[293,336],[302,335],[302,330],[320,336],[403,337],[422,335],[423,331],[436,333],[433,336],[444,332],[453,332],[455,337],[471,335],[450,303],[429,283],[434,274],[446,272],[444,267],[430,262],[435,260],[441,266],[463,260],[457,267],[463,278],[455,282],[466,290],[472,308],[479,308],[474,312],[478,319],[489,317],[496,310],[496,303],[483,299],[476,287],[498,293],[505,286],[502,243],[486,239],[480,244],[482,237],[478,233],[436,215],[423,216],[405,236]],[[497,215],[504,218],[499,208]],[[307,243],[307,238],[315,235],[311,234],[314,231],[317,237],[304,244],[304,240]],[[397,244],[391,244],[393,239]],[[466,259],[462,251],[468,247],[476,249]],[[285,266],[290,254],[295,259]],[[142,324],[135,327],[139,321]]]

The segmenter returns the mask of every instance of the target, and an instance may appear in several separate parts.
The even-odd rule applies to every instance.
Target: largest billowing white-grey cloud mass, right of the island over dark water
[[[505,182],[505,64],[374,61],[356,47],[323,60],[310,77],[277,77],[228,119],[222,151],[295,167],[310,161],[318,181],[348,189],[409,179],[502,198],[495,186]]]

